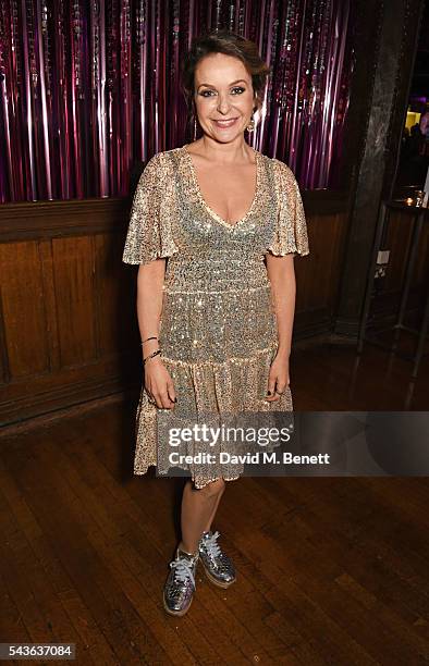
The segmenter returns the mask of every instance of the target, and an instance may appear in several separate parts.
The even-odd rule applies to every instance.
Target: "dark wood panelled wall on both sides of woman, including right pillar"
[[[421,1],[394,2],[410,22],[409,40],[409,32],[415,35],[418,28]],[[413,54],[397,49],[397,39],[392,39],[399,21],[389,17],[387,3],[358,0],[357,5],[356,66],[341,158],[343,187],[303,193],[310,255],[295,260],[295,338],[335,328],[355,335],[383,178],[395,160],[394,151],[383,152],[378,143],[378,171],[370,173],[371,119],[380,113],[382,97],[377,87],[385,86],[378,74],[380,58],[389,60],[389,75],[395,79],[394,94],[382,97],[383,122],[388,118],[392,126],[403,113],[408,81],[404,72],[409,73]],[[366,20],[369,15],[371,22]],[[392,145],[389,132],[382,141]],[[130,203],[131,198],[1,207],[2,423],[121,393],[140,381],[137,267],[121,261]],[[396,229],[404,233],[401,225]]]

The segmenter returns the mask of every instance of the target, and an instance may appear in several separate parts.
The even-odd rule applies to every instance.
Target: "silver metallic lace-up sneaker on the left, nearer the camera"
[[[185,615],[189,609],[195,591],[198,557],[198,551],[192,555],[177,547],[175,559],[170,563],[171,571],[163,590],[163,605],[170,615]]]

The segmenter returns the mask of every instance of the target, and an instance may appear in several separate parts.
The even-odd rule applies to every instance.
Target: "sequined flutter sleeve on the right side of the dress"
[[[274,162],[275,196],[278,201],[274,235],[268,246],[273,255],[309,255],[307,224],[303,199],[292,170],[280,160]]]

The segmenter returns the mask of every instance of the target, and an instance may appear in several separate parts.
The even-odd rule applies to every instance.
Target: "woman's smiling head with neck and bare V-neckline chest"
[[[203,139],[185,147],[189,170],[201,202],[224,224],[247,219],[259,195],[260,161],[243,135],[254,127],[268,67],[252,42],[241,39],[233,44],[218,33],[221,51],[213,51],[210,40],[201,42],[199,60],[196,63],[189,53],[183,76],[189,107],[204,132]]]

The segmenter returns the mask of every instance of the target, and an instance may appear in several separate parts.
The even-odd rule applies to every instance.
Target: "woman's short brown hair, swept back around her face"
[[[233,55],[243,62],[252,76],[252,85],[256,96],[256,109],[260,109],[270,67],[259,55],[258,48],[254,41],[236,33],[232,33],[226,28],[222,28],[217,32],[194,37],[191,49],[182,61],[181,87],[186,99],[189,116],[195,114],[195,70],[199,61],[211,53]]]

